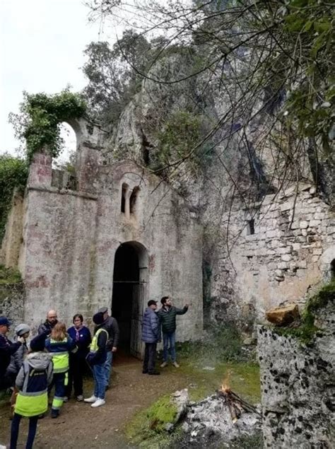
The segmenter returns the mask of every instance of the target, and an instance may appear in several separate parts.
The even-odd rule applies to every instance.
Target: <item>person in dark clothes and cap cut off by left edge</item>
[[[16,353],[24,342],[23,337],[18,337],[16,343],[12,343],[6,337],[10,326],[11,322],[7,317],[0,317],[0,390],[11,386],[11,380],[6,377],[6,370],[9,363],[11,363],[11,356]]]

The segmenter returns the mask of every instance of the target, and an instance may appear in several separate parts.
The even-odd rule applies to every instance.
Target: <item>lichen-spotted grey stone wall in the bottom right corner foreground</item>
[[[334,448],[335,313],[333,301],[317,317],[307,346],[276,330],[258,329],[261,405],[266,448]]]

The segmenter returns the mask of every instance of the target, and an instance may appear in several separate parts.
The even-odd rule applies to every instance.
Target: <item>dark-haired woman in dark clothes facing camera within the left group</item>
[[[77,401],[83,400],[83,374],[86,371],[86,356],[90,347],[91,337],[88,327],[83,325],[83,315],[76,313],[72,320],[74,326],[69,327],[67,333],[74,340],[78,351],[70,354],[69,383],[66,387],[64,400],[71,397],[72,385],[74,387],[74,396]]]

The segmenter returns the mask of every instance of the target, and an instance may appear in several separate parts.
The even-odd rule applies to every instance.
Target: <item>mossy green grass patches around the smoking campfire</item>
[[[172,366],[168,366],[165,368],[165,375],[171,373],[171,375],[183,378],[184,387],[188,387],[189,390],[189,399],[194,402],[212,395],[228,378],[230,387],[237,395],[252,404],[260,402],[259,366],[257,364],[221,362],[209,367],[214,369],[204,368],[208,368],[208,366],[200,359],[183,358],[178,371],[175,368],[172,369]],[[171,390],[171,393],[173,391]],[[166,409],[164,409],[165,407]],[[168,433],[164,428],[167,422],[173,422],[174,412],[175,409],[170,406],[170,395],[160,397],[150,407],[137,412],[125,428],[129,443],[144,449],[173,447],[182,431],[177,427],[173,433]],[[247,445],[242,447],[247,448]]]

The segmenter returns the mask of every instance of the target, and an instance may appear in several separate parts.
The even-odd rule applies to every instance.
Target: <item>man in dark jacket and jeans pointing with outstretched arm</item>
[[[172,365],[179,368],[176,361],[175,350],[176,315],[184,315],[184,313],[187,313],[187,310],[189,310],[189,305],[185,304],[182,309],[178,309],[172,305],[172,300],[169,296],[163,296],[160,303],[162,303],[162,308],[158,310],[158,317],[162,324],[163,332],[163,363],[160,366],[161,368],[167,366],[168,345],[170,342]]]

